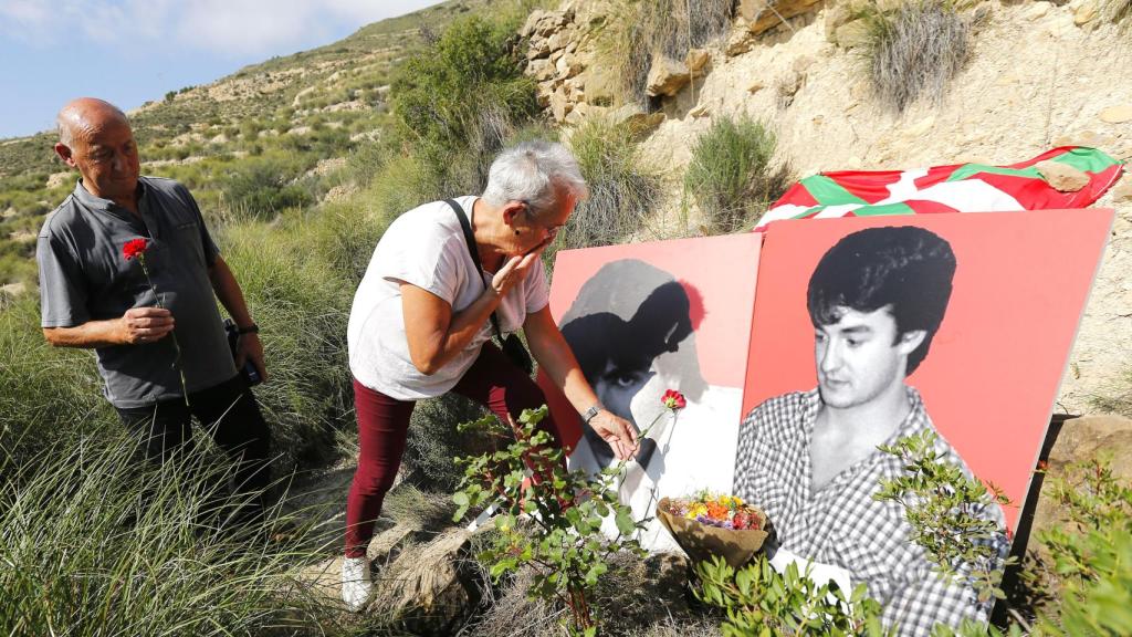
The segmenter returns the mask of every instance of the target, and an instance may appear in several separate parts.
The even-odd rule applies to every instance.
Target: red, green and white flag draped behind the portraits
[[[1062,193],[1035,167],[1055,161],[1089,176]],[[1087,207],[1121,177],[1123,165],[1096,148],[1061,146],[1010,165],[962,163],[917,170],[843,170],[806,177],[766,211],[755,230],[783,219]]]

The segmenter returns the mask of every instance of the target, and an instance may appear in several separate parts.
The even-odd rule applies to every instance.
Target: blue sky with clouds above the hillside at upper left
[[[438,0],[0,0],[0,138],[71,97],[123,109]]]

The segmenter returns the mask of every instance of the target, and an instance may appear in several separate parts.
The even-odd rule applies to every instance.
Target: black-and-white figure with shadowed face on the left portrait
[[[695,428],[705,421],[729,431],[730,444],[722,447],[734,449],[741,396],[738,388],[712,388],[704,380],[693,316],[693,308],[702,307],[698,295],[692,284],[644,261],[619,260],[585,281],[559,321],[601,404],[644,434],[620,485],[623,501],[637,517],[651,515],[664,495],[685,494],[696,474],[711,473],[704,465],[719,464],[710,459],[705,447],[712,441],[694,440]],[[688,404],[675,418],[661,400],[668,390],[679,391]],[[730,417],[720,417],[721,410],[730,411]],[[705,431],[701,430],[701,439]],[[600,470],[611,466],[609,445],[584,424],[582,433],[571,456],[572,467]],[[700,485],[709,486],[720,485]],[[658,529],[645,534],[645,545],[667,542],[658,537]]]

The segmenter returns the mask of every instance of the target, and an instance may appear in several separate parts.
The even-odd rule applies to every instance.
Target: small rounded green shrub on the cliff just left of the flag
[[[692,147],[684,176],[685,195],[700,204],[709,232],[734,232],[753,226],[786,192],[789,168],[770,167],[774,134],[740,117],[720,117]]]

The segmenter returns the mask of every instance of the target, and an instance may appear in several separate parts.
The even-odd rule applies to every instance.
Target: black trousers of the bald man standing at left
[[[146,457],[155,462],[164,462],[174,453],[195,448],[191,417],[196,416],[235,464],[237,495],[256,494],[239,517],[249,523],[261,519],[264,492],[271,484],[271,431],[241,376],[190,393],[188,406],[183,399],[175,398],[117,410],[122,423],[142,440]]]

